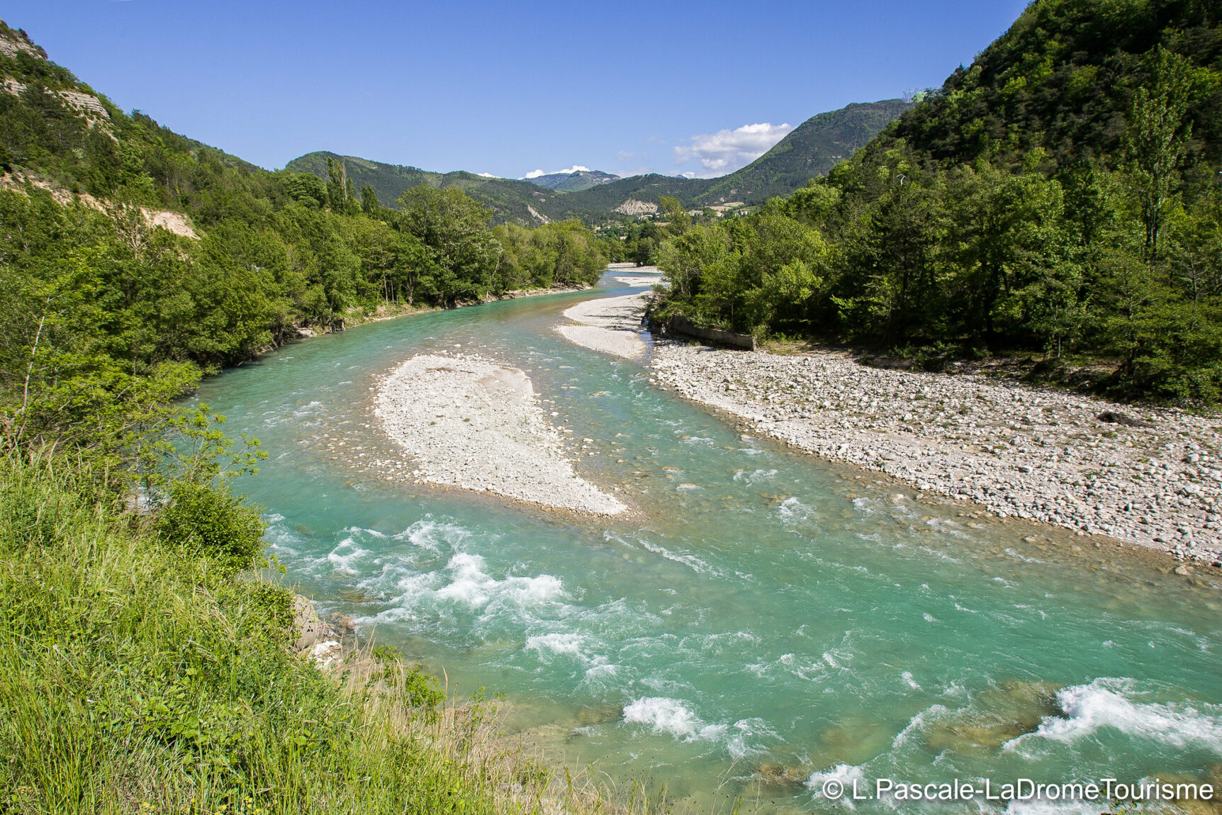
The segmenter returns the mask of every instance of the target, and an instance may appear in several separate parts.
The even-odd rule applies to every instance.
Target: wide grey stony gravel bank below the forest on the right
[[[1134,408],[979,374],[655,345],[656,381],[820,457],[1000,517],[1220,561],[1222,419]]]

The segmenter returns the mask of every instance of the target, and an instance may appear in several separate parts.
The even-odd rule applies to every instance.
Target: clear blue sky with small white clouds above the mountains
[[[1024,0],[0,0],[125,110],[264,167],[723,175],[815,114],[940,86]]]

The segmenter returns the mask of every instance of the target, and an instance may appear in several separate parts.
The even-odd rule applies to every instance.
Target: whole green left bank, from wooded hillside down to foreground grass
[[[0,811],[513,809],[479,706],[439,711],[392,649],[342,677],[296,652],[231,486],[258,440],[174,402],[307,330],[591,283],[601,243],[494,228],[458,187],[387,209],[334,163],[266,172],[2,22],[0,164]]]

